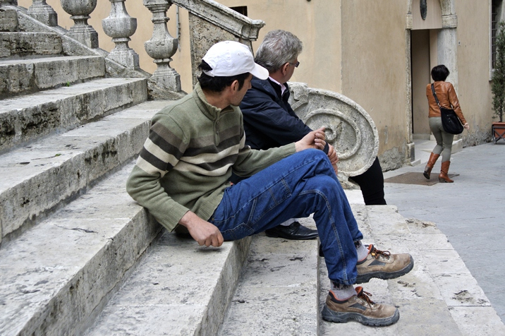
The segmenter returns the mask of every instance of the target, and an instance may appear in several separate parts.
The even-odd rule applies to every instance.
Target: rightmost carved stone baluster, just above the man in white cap
[[[181,92],[181,76],[170,67],[171,56],[177,51],[178,40],[171,37],[166,28],[166,11],[172,5],[168,0],[144,0],[144,6],[152,12],[154,29],[151,40],[145,42],[145,51],[154,59],[158,68],[149,80],[149,92],[154,98],[176,97]]]

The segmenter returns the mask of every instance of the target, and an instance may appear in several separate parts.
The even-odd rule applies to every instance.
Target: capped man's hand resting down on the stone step
[[[224,238],[219,229],[214,224],[202,220],[195,212],[186,212],[179,224],[188,228],[198,245],[219,247],[223,244]]]

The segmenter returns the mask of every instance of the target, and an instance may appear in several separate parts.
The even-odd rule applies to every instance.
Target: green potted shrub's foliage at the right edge
[[[505,112],[505,22],[500,21],[496,36],[496,63],[492,78],[494,117],[503,121]]]

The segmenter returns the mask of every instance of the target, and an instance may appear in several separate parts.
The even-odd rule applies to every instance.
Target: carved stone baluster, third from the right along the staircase
[[[67,35],[90,48],[98,48],[98,33],[87,24],[96,6],[97,0],[61,0],[63,11],[70,14],[75,23]]]

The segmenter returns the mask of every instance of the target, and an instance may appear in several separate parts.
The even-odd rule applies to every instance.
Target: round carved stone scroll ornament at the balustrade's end
[[[369,114],[348,97],[328,90],[289,83],[290,104],[312,129],[326,127],[327,142],[339,156],[339,178],[366,172],[377,157],[379,135]]]

